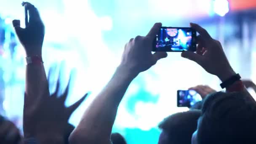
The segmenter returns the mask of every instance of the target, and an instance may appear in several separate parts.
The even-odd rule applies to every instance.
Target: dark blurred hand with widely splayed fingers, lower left
[[[69,90],[69,83],[61,96],[57,96],[59,91],[59,80],[57,82],[56,91],[49,96],[48,89],[45,93],[38,96],[35,101],[29,101],[25,94],[24,102],[24,136],[34,137],[44,141],[50,138],[63,140],[70,129],[68,123],[70,115],[84,101],[83,96],[79,101],[70,107],[65,107]],[[26,101],[28,99],[28,101]],[[48,141],[47,141],[48,142]]]

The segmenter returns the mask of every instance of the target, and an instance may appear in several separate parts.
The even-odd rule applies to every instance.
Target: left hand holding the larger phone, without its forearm
[[[158,60],[167,57],[166,52],[155,52],[152,54],[152,43],[159,31],[161,23],[156,23],[147,36],[132,38],[126,45],[120,66],[129,72],[139,74],[157,63]]]

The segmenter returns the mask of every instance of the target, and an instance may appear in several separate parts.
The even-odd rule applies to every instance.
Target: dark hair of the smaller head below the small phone
[[[191,144],[192,134],[197,129],[200,115],[200,110],[179,112],[165,118],[159,128],[167,133],[170,144]]]

